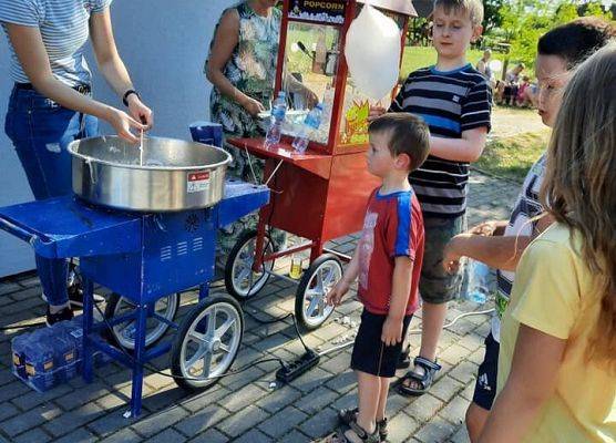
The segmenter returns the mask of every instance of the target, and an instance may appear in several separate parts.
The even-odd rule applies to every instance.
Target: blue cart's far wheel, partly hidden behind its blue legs
[[[179,308],[179,293],[171,293],[156,300],[154,311],[173,321],[177,309]],[[135,305],[115,292],[107,298],[105,307],[105,319],[111,320],[114,317],[126,315],[135,309]],[[155,318],[147,318],[147,331],[145,332],[145,347],[156,343],[163,338],[170,326]],[[125,322],[115,324],[113,327],[113,340],[124,349],[135,349],[135,320],[127,320]]]

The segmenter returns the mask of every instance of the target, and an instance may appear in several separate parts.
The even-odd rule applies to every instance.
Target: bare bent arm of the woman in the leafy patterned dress
[[[222,94],[236,101],[250,115],[257,115],[265,107],[257,100],[244,94],[225,76],[223,70],[239,41],[239,16],[235,9],[227,10],[214,35],[212,52],[205,65],[205,75]]]

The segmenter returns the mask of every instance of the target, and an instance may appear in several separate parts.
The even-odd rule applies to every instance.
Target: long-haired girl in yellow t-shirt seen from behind
[[[584,62],[547,154],[556,223],[524,253],[480,442],[616,442],[616,42]]]

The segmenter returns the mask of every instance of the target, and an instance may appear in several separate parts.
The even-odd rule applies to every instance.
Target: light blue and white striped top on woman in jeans
[[[85,61],[85,43],[92,13],[103,12],[112,0],[0,0],[0,22],[39,28],[51,71],[70,86],[91,84],[92,74]],[[11,79],[30,83],[14,49],[11,52]]]

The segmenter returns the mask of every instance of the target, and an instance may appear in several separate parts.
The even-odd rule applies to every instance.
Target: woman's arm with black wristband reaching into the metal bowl
[[[92,13],[90,18],[90,38],[99,70],[117,96],[124,97],[126,91],[134,90],[134,86],[115,45],[110,8]],[[126,101],[131,116],[137,122],[145,123],[147,128],[152,127],[154,123],[152,111],[143,104],[138,95],[130,94]]]

